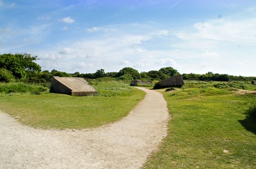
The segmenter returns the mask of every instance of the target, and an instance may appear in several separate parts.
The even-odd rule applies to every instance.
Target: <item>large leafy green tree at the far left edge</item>
[[[27,53],[1,54],[0,68],[11,71],[18,79],[26,79],[41,71],[41,66],[35,63],[35,60],[37,56],[33,57]]]

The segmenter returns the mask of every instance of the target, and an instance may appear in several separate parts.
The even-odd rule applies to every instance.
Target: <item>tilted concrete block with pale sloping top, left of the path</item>
[[[71,96],[92,96],[97,94],[97,91],[83,78],[58,76],[52,77],[50,92]]]

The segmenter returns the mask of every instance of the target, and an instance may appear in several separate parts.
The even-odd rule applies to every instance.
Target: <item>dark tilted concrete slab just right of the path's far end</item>
[[[154,89],[170,88],[170,87],[181,87],[185,85],[182,75],[172,76],[171,78],[161,80],[154,85]]]

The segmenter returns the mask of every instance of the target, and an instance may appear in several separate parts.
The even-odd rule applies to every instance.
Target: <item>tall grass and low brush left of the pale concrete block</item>
[[[0,83],[0,96],[47,93],[48,88],[36,84]]]

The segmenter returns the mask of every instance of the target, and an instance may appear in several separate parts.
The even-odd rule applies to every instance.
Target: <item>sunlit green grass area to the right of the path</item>
[[[255,85],[185,83],[179,91],[159,90],[171,114],[168,136],[144,168],[255,168],[256,120],[244,112],[256,94],[230,91]]]

